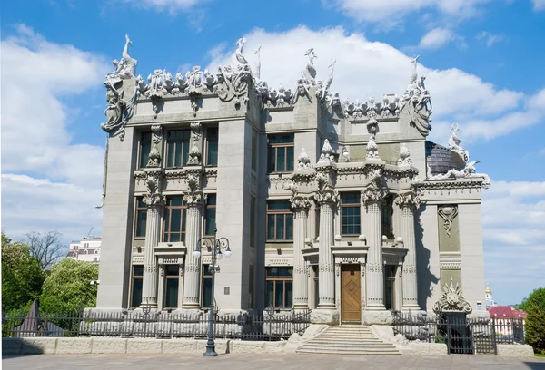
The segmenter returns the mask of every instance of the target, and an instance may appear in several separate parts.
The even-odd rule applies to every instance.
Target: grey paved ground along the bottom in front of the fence
[[[21,355],[5,356],[6,370],[25,369],[222,369],[222,370],[367,370],[367,369],[539,369],[545,358],[475,355],[359,356],[359,355]]]

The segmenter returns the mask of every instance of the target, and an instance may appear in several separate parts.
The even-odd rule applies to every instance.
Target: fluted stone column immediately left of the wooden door
[[[318,271],[320,274],[318,308],[335,308],[335,271],[333,268],[333,202],[320,203],[320,241],[318,243]]]

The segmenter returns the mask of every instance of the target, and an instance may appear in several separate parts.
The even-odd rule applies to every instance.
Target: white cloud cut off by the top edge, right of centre
[[[441,15],[468,18],[478,14],[479,7],[490,0],[336,0],[324,1],[339,7],[342,13],[359,22],[398,24],[408,16],[419,12],[436,11]]]

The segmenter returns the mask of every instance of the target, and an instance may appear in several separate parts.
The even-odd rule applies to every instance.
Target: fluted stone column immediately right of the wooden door
[[[367,309],[382,310],[384,307],[384,275],[382,272],[381,200],[376,197],[366,204],[367,242]]]

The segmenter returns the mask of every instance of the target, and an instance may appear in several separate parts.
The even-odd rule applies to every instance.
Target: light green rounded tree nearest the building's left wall
[[[51,268],[45,279],[40,307],[44,315],[73,313],[79,308],[96,306],[98,265],[65,258]]]

